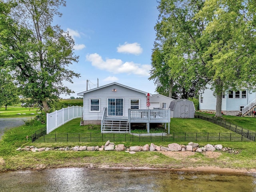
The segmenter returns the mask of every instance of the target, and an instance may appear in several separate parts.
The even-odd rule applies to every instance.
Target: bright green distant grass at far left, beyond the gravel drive
[[[7,110],[5,110],[5,108],[0,108],[0,118],[35,117],[37,112],[38,110],[36,108],[11,106],[7,107]],[[21,115],[17,115],[17,113],[21,113]],[[31,115],[30,113],[34,113],[34,115]]]

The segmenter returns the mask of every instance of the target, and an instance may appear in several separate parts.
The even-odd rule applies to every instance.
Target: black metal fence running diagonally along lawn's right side
[[[206,121],[212,122],[214,124],[217,124],[219,126],[222,126],[228,130],[231,130],[233,132],[236,132],[237,134],[242,135],[242,137],[247,138],[248,140],[255,141],[255,139],[256,139],[256,132],[242,128],[241,126],[232,124],[225,120],[214,118],[214,116],[210,116],[207,114],[201,114],[201,113],[195,113],[195,118],[206,120]]]

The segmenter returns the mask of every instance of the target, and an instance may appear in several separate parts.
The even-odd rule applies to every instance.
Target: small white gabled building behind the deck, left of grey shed
[[[173,98],[166,97],[161,94],[154,94],[150,96],[150,109],[154,108],[163,108],[163,109],[168,109],[170,106],[171,101],[173,101]]]

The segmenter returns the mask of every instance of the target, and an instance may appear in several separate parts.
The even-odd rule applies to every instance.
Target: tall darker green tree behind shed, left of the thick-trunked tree
[[[169,91],[169,96],[174,94],[188,99],[198,93],[206,79],[202,75],[202,61],[196,54],[199,48],[195,43],[202,30],[190,20],[200,10],[202,2],[186,3],[182,0],[159,2],[160,14],[155,26],[156,40],[149,79],[155,80],[158,92]]]

